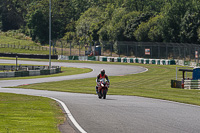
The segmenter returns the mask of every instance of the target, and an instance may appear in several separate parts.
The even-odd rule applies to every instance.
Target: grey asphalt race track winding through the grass
[[[0,60],[0,63],[15,63],[15,61]],[[19,64],[48,65],[47,62],[33,61],[20,61]],[[0,92],[59,99],[67,105],[76,121],[88,133],[200,133],[199,106],[135,96],[108,95],[106,100],[100,100],[97,95],[92,94],[3,88],[21,84],[96,77],[101,68],[104,68],[109,76],[146,71],[142,67],[124,65],[87,63],[52,63],[52,65],[92,68],[93,71],[72,76],[0,81]]]

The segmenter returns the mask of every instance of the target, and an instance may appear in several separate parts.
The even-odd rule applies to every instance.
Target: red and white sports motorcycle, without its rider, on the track
[[[98,87],[98,97],[101,99],[106,99],[106,94],[108,92],[110,83],[106,81],[105,79],[101,79],[99,82],[99,87]]]

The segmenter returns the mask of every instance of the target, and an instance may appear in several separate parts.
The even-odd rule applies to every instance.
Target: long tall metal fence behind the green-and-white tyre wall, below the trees
[[[61,55],[102,55],[127,56],[141,58],[163,58],[196,60],[199,57],[200,45],[186,43],[157,42],[91,42],[57,41],[55,44]]]

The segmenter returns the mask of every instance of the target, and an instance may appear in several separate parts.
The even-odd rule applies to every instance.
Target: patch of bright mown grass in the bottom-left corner
[[[0,93],[1,133],[59,133],[65,116],[51,99]]]

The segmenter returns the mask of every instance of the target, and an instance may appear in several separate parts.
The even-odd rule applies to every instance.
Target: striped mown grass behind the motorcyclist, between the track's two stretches
[[[149,70],[145,73],[109,77],[111,85],[108,94],[110,95],[141,96],[200,105],[199,90],[184,90],[170,87],[171,79],[174,79],[176,76],[176,67],[180,66],[161,66],[126,63],[109,64],[136,65],[146,67]],[[31,88],[40,90],[46,90],[46,88],[48,88],[48,90],[52,91],[95,94],[95,85],[95,78],[88,78],[70,81],[32,84],[27,86],[19,86],[19,88]]]

